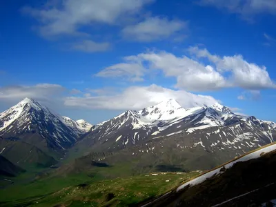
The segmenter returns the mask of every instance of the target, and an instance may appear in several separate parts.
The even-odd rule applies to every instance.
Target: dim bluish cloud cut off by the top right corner
[[[201,6],[215,6],[244,17],[256,14],[276,14],[275,0],[200,0]]]

